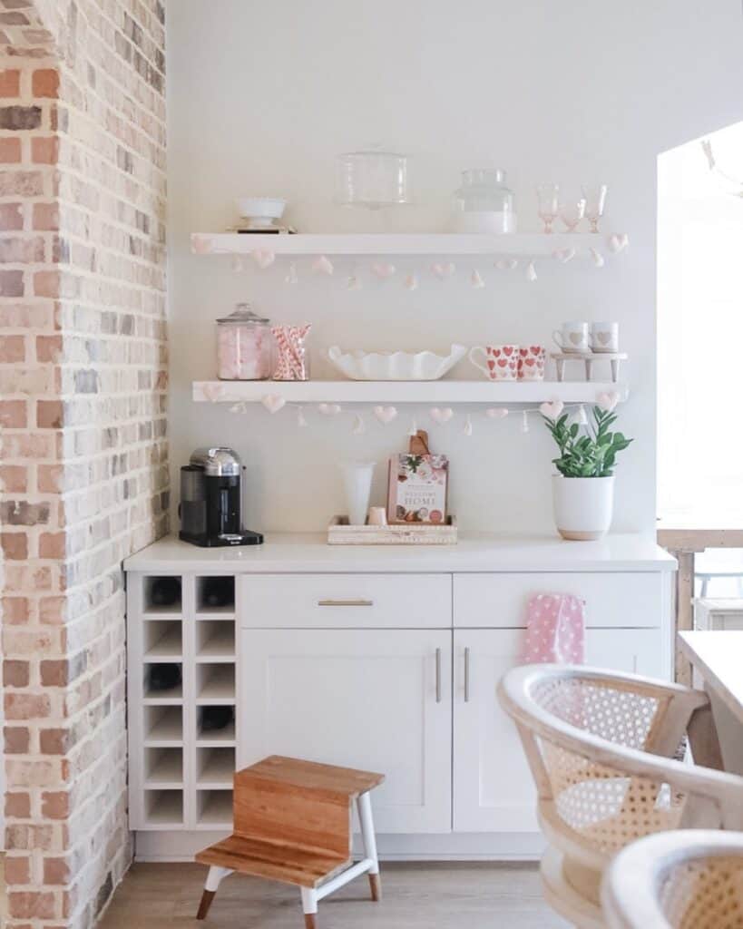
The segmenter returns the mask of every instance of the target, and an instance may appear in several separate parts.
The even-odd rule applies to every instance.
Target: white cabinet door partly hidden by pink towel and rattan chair
[[[454,831],[537,831],[535,793],[515,726],[498,703],[502,675],[519,663],[523,629],[454,633]],[[588,629],[586,662],[659,676],[659,629]]]

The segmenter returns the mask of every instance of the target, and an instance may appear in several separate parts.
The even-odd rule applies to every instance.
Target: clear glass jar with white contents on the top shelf
[[[456,232],[508,233],[516,230],[514,191],[501,168],[471,168],[454,194]]]

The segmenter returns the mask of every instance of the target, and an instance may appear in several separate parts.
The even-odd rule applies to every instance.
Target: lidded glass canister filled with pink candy
[[[267,381],[273,373],[271,322],[239,303],[216,321],[217,377],[220,381]]]

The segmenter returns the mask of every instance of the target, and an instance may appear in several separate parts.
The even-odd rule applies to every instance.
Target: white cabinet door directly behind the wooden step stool
[[[243,629],[239,676],[239,766],[380,771],[379,832],[450,831],[450,630]]]

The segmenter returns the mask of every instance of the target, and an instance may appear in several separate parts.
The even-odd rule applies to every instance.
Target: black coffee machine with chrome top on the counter
[[[180,539],[202,548],[263,542],[260,532],[242,528],[243,471],[232,449],[193,452],[180,469]]]

